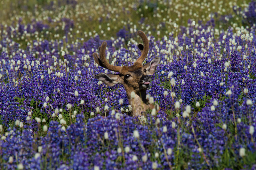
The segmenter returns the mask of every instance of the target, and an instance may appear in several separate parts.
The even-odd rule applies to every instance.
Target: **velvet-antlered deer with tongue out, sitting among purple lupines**
[[[132,106],[131,115],[140,116],[142,111],[152,109],[154,106],[149,104],[146,99],[147,88],[149,87],[150,78],[148,75],[153,75],[156,67],[160,62],[160,58],[154,58],[151,62],[142,65],[142,62],[148,55],[148,37],[142,31],[137,32],[143,41],[143,45],[139,44],[138,48],[141,51],[140,57],[132,66],[114,66],[110,65],[105,57],[107,42],[102,42],[99,47],[100,58],[97,53],[93,53],[95,62],[108,70],[119,72],[120,74],[105,74],[99,73],[95,78],[102,81],[108,86],[116,85],[117,83],[124,85],[130,105]],[[131,92],[135,93],[135,98],[132,98]],[[134,97],[134,96],[133,96]]]

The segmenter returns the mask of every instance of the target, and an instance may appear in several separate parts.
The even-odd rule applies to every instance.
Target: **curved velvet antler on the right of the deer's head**
[[[147,57],[148,55],[148,48],[149,48],[149,42],[148,42],[148,37],[146,36],[145,33],[143,33],[143,31],[139,30],[137,32],[137,34],[140,36],[140,38],[142,39],[143,41],[143,45],[142,44],[139,44],[138,45],[138,48],[140,49],[141,51],[141,55],[140,57],[136,60],[137,63],[142,63],[145,58]]]

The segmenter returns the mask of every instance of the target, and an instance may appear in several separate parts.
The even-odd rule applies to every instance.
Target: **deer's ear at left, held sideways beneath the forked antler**
[[[107,86],[116,85],[119,82],[119,78],[120,78],[119,74],[105,74],[105,73],[96,74],[94,77],[102,81]]]

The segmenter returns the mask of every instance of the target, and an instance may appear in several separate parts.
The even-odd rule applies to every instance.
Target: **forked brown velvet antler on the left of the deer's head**
[[[101,67],[104,67],[104,68],[106,68],[108,70],[116,71],[116,72],[121,72],[122,67],[110,65],[108,63],[108,61],[107,61],[107,59],[105,57],[106,47],[107,47],[107,42],[106,41],[102,42],[101,46],[99,47],[100,58],[99,58],[99,55],[97,53],[93,53],[94,61],[98,65],[100,65]]]

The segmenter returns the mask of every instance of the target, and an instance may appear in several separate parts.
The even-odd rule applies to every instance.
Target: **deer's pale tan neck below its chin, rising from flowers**
[[[141,112],[146,111],[147,109],[152,109],[153,105],[148,104],[146,99],[147,90],[140,91],[135,93],[135,98],[131,99],[131,96],[128,96],[129,104],[132,106],[132,116],[140,116]]]

